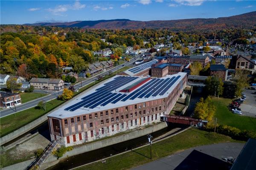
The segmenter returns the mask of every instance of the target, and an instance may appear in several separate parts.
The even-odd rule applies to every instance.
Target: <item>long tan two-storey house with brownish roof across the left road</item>
[[[64,81],[61,79],[32,78],[29,83],[38,89],[61,90],[64,88]]]

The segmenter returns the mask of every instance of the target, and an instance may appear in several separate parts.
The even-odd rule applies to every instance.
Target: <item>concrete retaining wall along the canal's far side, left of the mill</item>
[[[77,97],[81,96],[84,94],[84,92],[90,90],[91,88],[95,88],[99,85],[101,85],[102,83],[104,83],[105,81],[107,81],[108,79],[102,81],[102,82],[99,82],[98,84],[88,88],[87,90],[83,91],[82,93],[78,94],[77,96],[75,96],[72,100],[75,100]],[[69,102],[69,101],[67,101]],[[64,102],[63,104],[61,104],[60,106],[58,106],[57,108],[53,109],[52,111],[50,111],[49,113],[52,113],[53,111],[57,110],[59,107],[62,107],[64,105],[67,105],[67,102]],[[12,141],[13,139],[23,135],[24,133],[26,132],[29,132],[30,130],[34,129],[35,127],[41,125],[42,123],[44,123],[45,121],[47,121],[47,115],[49,114],[45,114],[44,116],[41,116],[40,118],[34,120],[33,122],[23,126],[23,127],[20,127],[19,129],[15,130],[14,132],[12,133],[9,133],[8,135],[6,136],[3,136],[0,138],[0,145],[3,145],[3,144],[6,144],[7,142],[10,142]]]

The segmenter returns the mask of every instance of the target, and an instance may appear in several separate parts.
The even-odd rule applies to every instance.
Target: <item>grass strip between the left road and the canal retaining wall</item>
[[[124,68],[119,69],[117,71],[117,73],[125,71],[128,68],[130,68],[130,67],[125,66]],[[113,77],[115,75],[116,75],[116,72],[114,74],[107,75],[100,80],[96,80],[95,83],[92,82],[92,83],[80,88],[79,92],[74,92],[74,95],[77,95],[77,94],[85,91],[87,88],[92,87],[94,84],[96,85],[97,83],[99,83],[105,79],[108,79],[110,77]],[[59,105],[61,105],[64,102],[65,101],[53,99],[53,100],[47,102],[47,104],[46,104],[47,110],[46,111],[44,111],[43,109],[36,109],[34,107],[34,108],[29,108],[24,111],[20,111],[15,114],[1,118],[0,119],[0,136],[5,136],[5,135],[17,130],[18,128],[20,128],[22,126],[27,125],[28,123],[34,121],[35,119],[38,119],[39,117],[43,116],[44,114],[48,113],[49,111],[58,107]]]

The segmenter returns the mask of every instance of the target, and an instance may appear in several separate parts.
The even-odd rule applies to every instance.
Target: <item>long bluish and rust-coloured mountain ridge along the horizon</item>
[[[256,11],[218,18],[136,21],[129,19],[73,21],[64,23],[32,23],[27,26],[57,26],[96,29],[170,28],[172,30],[204,30],[225,28],[256,28]]]

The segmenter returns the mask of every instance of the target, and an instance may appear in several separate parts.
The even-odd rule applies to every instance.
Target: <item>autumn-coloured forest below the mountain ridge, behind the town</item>
[[[72,66],[75,72],[86,69],[89,63],[102,59],[93,51],[111,48],[121,56],[127,46],[152,48],[159,43],[173,43],[181,49],[189,42],[199,45],[207,39],[225,41],[248,38],[255,30],[224,30],[209,32],[173,32],[169,29],[99,30],[41,26],[1,26],[1,74],[31,77],[60,77],[62,66]],[[58,32],[56,34],[56,32]],[[102,39],[105,39],[104,42]],[[143,43],[146,41],[146,43]],[[109,42],[109,44],[107,43]],[[223,45],[226,45],[225,43]]]

